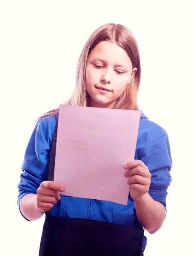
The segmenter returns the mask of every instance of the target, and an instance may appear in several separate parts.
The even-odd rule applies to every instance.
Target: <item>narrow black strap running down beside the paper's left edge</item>
[[[54,137],[53,137],[52,145],[51,145],[50,165],[49,165],[49,172],[48,172],[48,180],[51,180],[51,181],[54,181],[57,129],[58,129],[58,122],[56,122],[56,126],[54,129]]]

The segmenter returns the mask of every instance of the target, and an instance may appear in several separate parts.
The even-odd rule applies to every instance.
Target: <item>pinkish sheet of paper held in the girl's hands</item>
[[[63,195],[127,204],[141,111],[60,105],[54,181]]]

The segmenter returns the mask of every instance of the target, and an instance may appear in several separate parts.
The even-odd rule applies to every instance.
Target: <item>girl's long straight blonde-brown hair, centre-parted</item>
[[[101,41],[116,43],[122,47],[131,59],[133,68],[137,71],[126,87],[122,96],[120,96],[112,108],[138,110],[137,95],[141,77],[141,67],[139,58],[139,49],[133,34],[123,25],[108,23],[96,29],[86,42],[79,56],[76,69],[76,84],[71,97],[64,102],[65,105],[88,106],[88,93],[85,86],[85,70],[89,53]],[[55,108],[41,117],[56,116],[59,113],[59,107]]]

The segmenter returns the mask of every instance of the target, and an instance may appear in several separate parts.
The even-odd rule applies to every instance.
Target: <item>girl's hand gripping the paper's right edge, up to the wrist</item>
[[[141,199],[148,193],[151,183],[148,167],[141,160],[135,160],[125,164],[124,169],[127,170],[125,177],[129,177],[131,198],[134,201]]]

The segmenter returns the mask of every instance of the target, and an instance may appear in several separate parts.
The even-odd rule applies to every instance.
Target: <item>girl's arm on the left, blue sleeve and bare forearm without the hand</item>
[[[43,213],[37,207],[37,189],[48,179],[51,142],[56,119],[41,119],[34,127],[22,163],[22,174],[18,184],[18,207],[26,220],[40,218]],[[40,125],[39,125],[40,123]],[[37,126],[39,128],[37,130]]]

